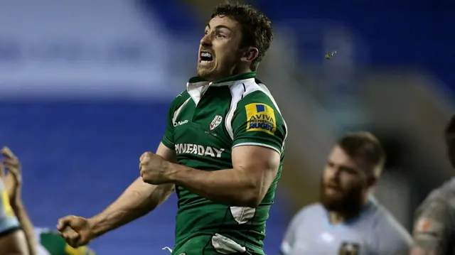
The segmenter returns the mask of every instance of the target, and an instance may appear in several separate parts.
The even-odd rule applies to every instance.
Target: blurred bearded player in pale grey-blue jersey
[[[304,207],[287,229],[282,255],[405,255],[412,239],[373,199],[385,153],[368,132],[339,139],[321,178],[321,202]]]

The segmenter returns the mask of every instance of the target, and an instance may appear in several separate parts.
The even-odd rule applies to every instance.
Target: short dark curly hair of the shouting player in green
[[[272,22],[269,18],[248,4],[220,4],[213,10],[211,18],[216,16],[226,16],[240,23],[242,26],[240,47],[255,47],[259,51],[251,65],[253,71],[257,70],[273,40]]]

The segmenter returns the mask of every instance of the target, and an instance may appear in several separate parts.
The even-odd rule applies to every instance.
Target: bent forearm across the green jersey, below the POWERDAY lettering
[[[241,170],[203,171],[173,164],[173,183],[213,202],[230,206],[256,207],[264,182]]]

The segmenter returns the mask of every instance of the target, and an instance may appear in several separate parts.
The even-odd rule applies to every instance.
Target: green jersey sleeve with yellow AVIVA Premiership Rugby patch
[[[286,124],[264,92],[252,92],[237,104],[232,118],[233,146],[263,146],[282,153]]]

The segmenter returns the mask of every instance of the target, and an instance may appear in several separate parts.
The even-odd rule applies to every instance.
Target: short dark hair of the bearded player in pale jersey
[[[351,158],[366,163],[368,170],[380,174],[385,164],[385,152],[379,139],[370,132],[347,134],[336,142]]]

